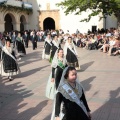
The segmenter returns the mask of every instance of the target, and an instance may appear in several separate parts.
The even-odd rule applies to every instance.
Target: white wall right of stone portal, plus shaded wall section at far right
[[[92,30],[92,26],[97,26],[97,29],[105,28],[104,19],[99,20],[99,16],[92,17],[89,22],[80,22],[81,19],[85,18],[88,15],[88,12],[83,12],[81,15],[74,15],[74,13],[65,15],[64,10],[62,8],[58,8],[55,4],[60,2],[60,0],[44,0],[42,3],[40,0],[37,0],[39,4],[41,4],[40,10],[47,10],[47,3],[50,3],[50,10],[60,10],[59,17],[59,29],[63,29],[65,32],[67,30],[70,33],[74,33],[76,29],[79,29],[80,32],[85,33],[88,29]],[[43,21],[43,18],[40,16],[40,21]],[[108,16],[106,19],[106,28],[115,27],[117,28],[117,19],[113,16]]]

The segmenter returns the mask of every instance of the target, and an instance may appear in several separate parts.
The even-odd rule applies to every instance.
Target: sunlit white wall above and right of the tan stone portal
[[[39,0],[38,0],[39,1]],[[97,26],[97,27],[103,27],[99,21],[98,16],[93,17],[89,22],[80,22],[81,19],[84,17],[87,17],[87,12],[84,12],[82,15],[74,15],[74,13],[65,15],[64,10],[62,8],[58,8],[55,4],[57,3],[56,0],[45,0],[44,3],[39,3],[41,4],[40,10],[47,10],[47,4],[50,3],[50,10],[60,10],[60,15],[59,15],[59,28],[58,29],[63,29],[65,32],[67,30],[70,31],[70,33],[74,33],[76,29],[79,29],[80,32],[84,33],[88,29],[91,30],[92,26]],[[56,15],[55,15],[56,16]],[[40,16],[40,21],[43,21],[42,16]]]

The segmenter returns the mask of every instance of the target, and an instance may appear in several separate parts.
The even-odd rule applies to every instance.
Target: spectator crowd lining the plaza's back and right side
[[[87,50],[99,50],[103,53],[107,53],[110,56],[116,56],[120,54],[120,32],[118,29],[99,30],[97,32],[88,31],[88,33],[82,34],[78,30],[74,34],[65,33],[62,29],[60,30],[33,30],[38,37],[39,41],[44,41],[48,32],[51,33],[51,37],[55,34],[58,35],[58,39],[61,43],[65,42],[69,36],[72,37],[73,43],[80,48]],[[12,39],[12,34],[9,32]],[[15,32],[17,33],[17,31]],[[27,31],[28,35],[32,34],[32,30]],[[21,32],[24,34],[24,32]],[[0,33],[0,39],[4,38],[4,33]]]

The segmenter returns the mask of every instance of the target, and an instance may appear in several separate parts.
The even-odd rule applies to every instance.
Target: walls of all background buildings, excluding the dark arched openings
[[[74,15],[74,13],[65,15],[64,10],[61,7],[57,7],[55,4],[60,2],[60,0],[23,0],[25,2],[29,2],[33,5],[33,14],[24,14],[24,13],[11,13],[14,16],[16,22],[14,23],[14,30],[20,30],[20,16],[24,15],[25,29],[43,29],[43,21],[47,17],[51,17],[55,21],[56,29],[63,29],[64,32],[67,30],[70,33],[75,33],[76,29],[79,29],[81,33],[86,33],[88,29],[92,30],[92,26],[97,26],[98,28],[105,28],[105,21],[102,19],[99,21],[99,16],[92,17],[89,22],[80,22],[81,19],[85,18],[88,15],[88,12],[83,12],[81,15]],[[40,11],[41,14],[40,14]],[[4,17],[6,12],[0,12],[0,31],[4,31]],[[117,19],[114,16],[108,16],[106,19],[106,28],[115,27],[117,28]]]

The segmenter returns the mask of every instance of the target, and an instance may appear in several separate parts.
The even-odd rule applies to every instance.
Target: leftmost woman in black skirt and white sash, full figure
[[[11,47],[11,40],[8,37],[5,39],[5,46],[2,47],[1,53],[0,74],[1,76],[7,76],[11,81],[13,75],[20,73],[20,69],[15,57],[15,52]]]

